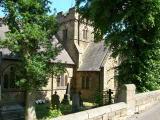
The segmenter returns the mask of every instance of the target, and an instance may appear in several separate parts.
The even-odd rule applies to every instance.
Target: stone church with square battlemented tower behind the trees
[[[114,79],[117,61],[110,55],[104,41],[94,42],[94,28],[74,8],[67,13],[58,13],[59,30],[53,36],[53,42],[63,45],[64,49],[52,60],[52,63],[61,62],[66,72],[59,76],[52,76],[48,85],[37,90],[37,99],[50,100],[51,95],[57,91],[60,99],[66,92],[67,84],[70,91],[81,92],[84,101],[94,101],[98,92],[115,89],[117,82]],[[0,37],[5,37],[8,27],[0,18]],[[14,80],[14,72],[19,58],[8,49],[0,49],[0,99],[1,103],[23,103],[24,91],[18,88]]]

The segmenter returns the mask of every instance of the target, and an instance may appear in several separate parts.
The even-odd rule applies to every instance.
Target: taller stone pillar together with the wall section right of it
[[[135,93],[136,87],[133,84],[124,85],[117,98],[117,102],[127,103],[127,115],[141,113],[160,103],[160,90],[145,93]]]

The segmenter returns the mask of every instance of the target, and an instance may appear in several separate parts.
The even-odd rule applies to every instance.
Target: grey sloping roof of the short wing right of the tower
[[[90,43],[82,58],[82,64],[78,71],[100,71],[103,61],[107,56],[108,49],[104,41]]]

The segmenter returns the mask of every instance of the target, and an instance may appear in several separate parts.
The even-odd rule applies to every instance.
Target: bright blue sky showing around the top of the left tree
[[[50,0],[52,2],[51,10],[54,11],[56,8],[57,12],[67,11],[70,7],[75,5],[75,0]],[[0,16],[4,16],[2,8],[0,8]]]

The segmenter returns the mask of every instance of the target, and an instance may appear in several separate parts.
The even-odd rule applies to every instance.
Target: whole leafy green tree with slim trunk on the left
[[[26,91],[26,120],[36,119],[35,92],[47,84],[50,71],[63,71],[59,64],[52,66],[49,62],[61,47],[52,45],[58,26],[54,15],[48,15],[48,5],[48,0],[2,0],[1,4],[10,31],[0,40],[0,47],[19,55],[22,74],[17,84]]]

